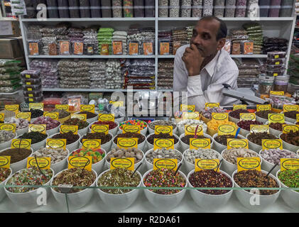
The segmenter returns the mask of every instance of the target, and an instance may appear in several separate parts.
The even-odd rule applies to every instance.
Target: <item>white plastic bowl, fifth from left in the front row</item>
[[[192,170],[191,172],[189,172],[189,174],[187,176],[188,187],[193,187],[189,181],[189,178],[194,171],[195,170]],[[222,170],[220,170],[220,172],[222,174],[226,175],[227,177],[229,177],[229,179],[232,182],[232,187],[234,187],[234,182],[232,180],[232,177],[229,176],[226,172],[224,172]],[[190,189],[190,194],[191,194],[192,199],[195,201],[195,204],[197,204],[197,206],[200,206],[202,208],[209,209],[209,210],[217,209],[219,206],[224,206],[225,204],[227,204],[227,201],[229,201],[230,197],[232,196],[232,192],[233,192],[233,190],[227,191],[227,193],[225,193],[225,194],[205,194],[198,190]]]

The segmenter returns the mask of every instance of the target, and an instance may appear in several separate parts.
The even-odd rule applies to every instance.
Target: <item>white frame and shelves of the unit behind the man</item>
[[[261,17],[261,18],[222,18],[223,21],[226,21],[228,30],[231,28],[241,28],[241,26],[246,22],[258,22],[263,26],[263,35],[268,37],[279,37],[286,38],[287,40],[292,40],[293,32],[295,29],[295,13],[291,17]],[[156,33],[156,42],[155,42],[155,55],[55,55],[55,56],[46,56],[46,55],[28,55],[28,45],[27,45],[27,28],[31,24],[40,24],[40,25],[55,25],[60,22],[70,22],[72,25],[76,26],[91,26],[91,25],[100,25],[102,27],[113,27],[116,31],[128,30],[129,26],[133,24],[140,25],[141,28],[153,27],[155,28]],[[164,91],[163,89],[158,89],[158,60],[170,58],[173,59],[174,55],[158,55],[158,31],[159,30],[170,30],[173,28],[180,28],[190,25],[195,25],[198,18],[159,18],[158,17],[158,0],[156,0],[156,16],[155,18],[46,18],[46,19],[35,19],[35,18],[20,18],[21,32],[23,35],[23,45],[26,53],[26,62],[29,67],[29,62],[34,58],[154,58],[156,63],[156,91]],[[291,42],[288,44],[288,57],[290,55]],[[266,55],[231,55],[231,57],[252,57],[252,58],[266,58]],[[45,92],[58,92],[58,91],[80,91],[80,92],[126,92],[126,89],[43,89]],[[134,90],[137,91],[137,90]],[[141,90],[141,91],[153,91],[153,90]],[[167,90],[167,91],[171,91]]]

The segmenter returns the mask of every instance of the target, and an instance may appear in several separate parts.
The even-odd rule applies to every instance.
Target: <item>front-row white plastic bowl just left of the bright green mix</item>
[[[261,170],[261,172],[268,174],[268,172],[266,172],[265,170]],[[234,175],[236,173],[237,173],[237,170],[234,171],[232,174],[233,180],[234,180]],[[276,177],[274,177],[272,174],[270,174],[269,177],[272,177],[273,179],[275,179],[278,186],[281,187],[281,184],[278,181],[278,179],[276,179]],[[235,181],[234,181],[234,187],[239,187],[239,185]],[[252,198],[252,196],[254,196],[254,194],[252,194],[250,192],[246,192],[246,190],[235,190],[235,191],[236,191],[235,194],[236,194],[237,198],[239,199],[239,201],[241,202],[241,204],[243,204],[243,206],[245,206],[247,209],[252,209],[252,210],[264,209],[267,206],[271,206],[271,204],[273,204],[276,201],[276,199],[278,199],[278,196],[281,192],[281,190],[278,190],[278,192],[276,192],[276,194],[259,195],[259,205],[252,206],[250,204],[250,201],[253,200],[251,198]],[[256,195],[256,196],[258,196],[258,195]]]

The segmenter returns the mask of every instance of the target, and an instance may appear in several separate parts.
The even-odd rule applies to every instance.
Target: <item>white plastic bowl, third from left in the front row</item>
[[[99,178],[108,171],[109,170],[102,172],[102,174],[97,177],[97,182],[99,181]],[[140,182],[137,187],[141,187],[142,175],[138,171],[136,171],[135,175],[139,175]],[[98,184],[97,187],[99,187]],[[109,211],[122,211],[127,209],[137,199],[139,192],[140,189],[133,189],[131,192],[126,192],[124,194],[109,194],[107,192],[103,192],[101,189],[97,189],[97,194],[99,194],[99,197],[104,202],[105,208]]]

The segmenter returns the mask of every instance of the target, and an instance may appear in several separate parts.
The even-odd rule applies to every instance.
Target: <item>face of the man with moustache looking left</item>
[[[209,57],[219,50],[219,41],[217,33],[220,23],[216,20],[198,21],[193,29],[193,35],[190,44],[195,44],[202,57]]]

